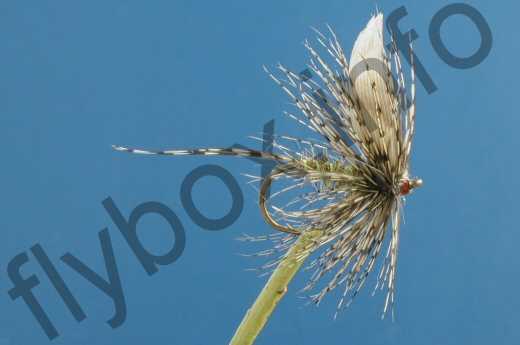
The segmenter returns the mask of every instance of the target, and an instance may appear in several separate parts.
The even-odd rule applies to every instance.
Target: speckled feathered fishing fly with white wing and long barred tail
[[[311,298],[319,303],[342,285],[338,310],[350,304],[376,259],[382,257],[374,291],[387,291],[384,316],[394,305],[403,201],[422,181],[412,178],[409,169],[415,123],[412,48],[411,85],[407,90],[394,40],[390,53],[386,52],[383,24],[381,13],[370,19],[358,35],[349,60],[330,27],[327,36],[316,30],[319,50],[324,54],[307,41],[305,47],[310,53],[308,68],[317,80],[283,65],[277,66],[276,74],[264,67],[298,109],[297,114],[286,114],[317,133],[320,140],[278,137],[273,152],[114,148],[148,155],[227,155],[273,161],[275,168],[261,180],[259,205],[266,222],[281,233],[266,237],[276,238],[277,243],[265,254],[283,255],[300,234],[319,229],[321,235],[309,250],[324,249],[310,264],[314,273],[304,290],[316,288],[327,274],[330,280]],[[269,196],[273,182],[282,179],[287,186]],[[282,206],[272,202],[305,187],[305,193],[300,192]],[[385,237],[389,237],[387,241]]]

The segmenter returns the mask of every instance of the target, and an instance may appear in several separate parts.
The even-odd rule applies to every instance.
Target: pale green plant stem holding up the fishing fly
[[[278,267],[267,281],[260,295],[256,298],[253,306],[247,311],[229,345],[253,344],[272,312],[287,292],[287,286],[307,256],[309,256],[313,240],[320,233],[321,231],[319,230],[306,231],[294,242],[287,255],[280,261]]]

